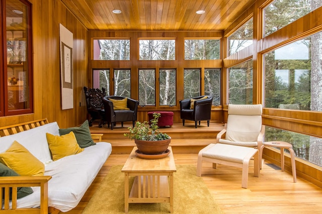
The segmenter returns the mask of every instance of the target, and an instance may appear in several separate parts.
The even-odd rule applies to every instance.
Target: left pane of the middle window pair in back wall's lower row
[[[139,69],[139,103],[155,105],[155,70]]]

